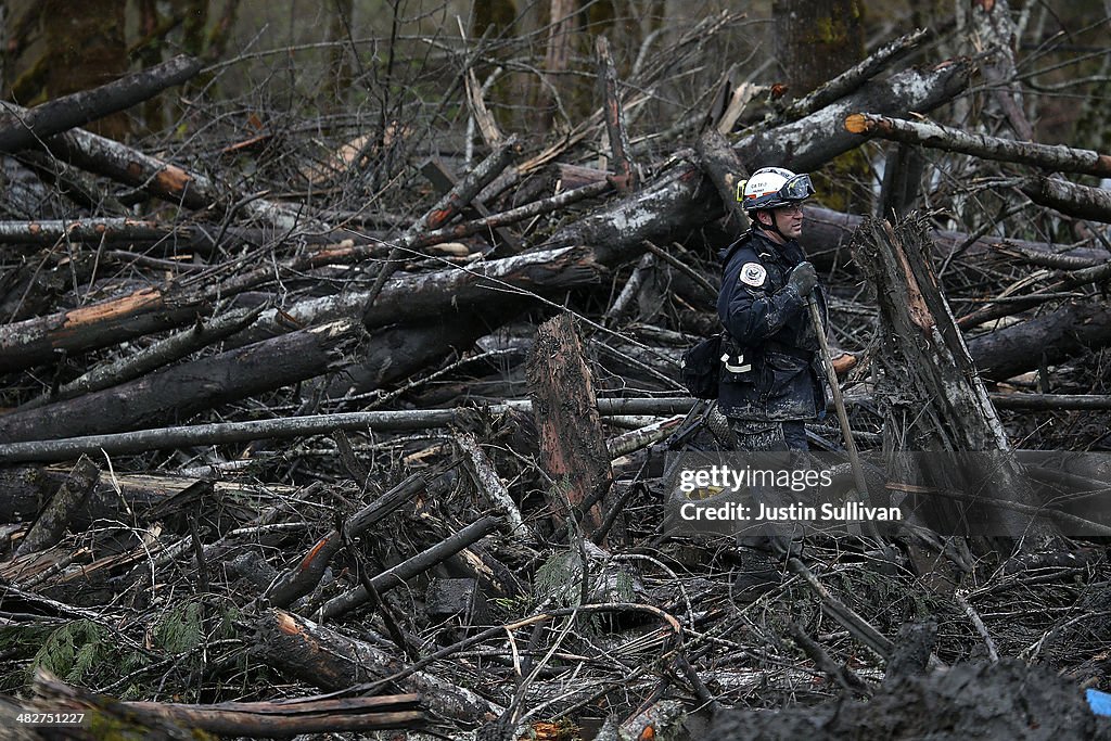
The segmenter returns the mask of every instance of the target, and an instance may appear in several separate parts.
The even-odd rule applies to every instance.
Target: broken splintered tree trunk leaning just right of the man
[[[1005,454],[991,457],[994,473],[990,481],[982,480],[982,465],[989,458],[984,453],[1008,453],[1011,445],[941,292],[930,262],[933,246],[928,230],[920,214],[911,214],[894,228],[868,219],[852,246],[875,289],[880,312],[879,395],[884,400],[884,434],[892,443],[905,430],[901,444],[893,447],[928,451],[953,463],[928,461],[931,464],[913,473],[935,493],[977,491],[988,483],[1002,498],[1035,504],[1029,482]],[[952,507],[933,504],[931,509],[942,518],[955,513]],[[991,508],[985,517],[990,520],[970,534],[1002,532],[1027,548],[1043,547],[1055,534],[1044,521],[1018,522],[1001,508]]]

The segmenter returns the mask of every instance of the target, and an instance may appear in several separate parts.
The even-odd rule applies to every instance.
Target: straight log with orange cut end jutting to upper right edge
[[[969,133],[940,123],[907,121],[867,112],[850,114],[845,118],[844,128],[853,133],[961,152],[987,160],[1015,162],[1062,172],[1082,172],[1100,178],[1111,177],[1111,156],[1100,154],[1090,149],[1014,141],[982,133]]]

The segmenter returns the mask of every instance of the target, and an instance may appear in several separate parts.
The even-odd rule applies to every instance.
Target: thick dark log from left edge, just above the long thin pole
[[[0,439],[53,438],[164,424],[336,370],[362,330],[333,322],[174,366],[83,397],[0,417]]]

